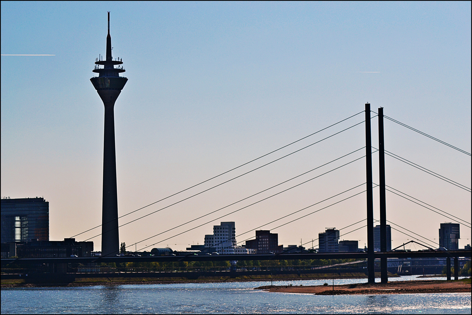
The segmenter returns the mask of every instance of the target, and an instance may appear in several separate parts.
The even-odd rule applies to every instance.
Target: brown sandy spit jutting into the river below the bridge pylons
[[[471,279],[417,280],[388,283],[356,283],[314,286],[262,286],[254,290],[284,293],[309,293],[314,295],[341,294],[398,294],[398,293],[471,293]]]

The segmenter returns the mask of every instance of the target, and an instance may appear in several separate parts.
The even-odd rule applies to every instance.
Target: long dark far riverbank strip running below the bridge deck
[[[398,277],[397,275],[389,275]],[[299,281],[299,280],[339,280],[339,279],[365,279],[362,273],[351,274],[283,274],[273,276],[238,276],[231,277],[199,277],[190,280],[184,277],[175,278],[145,278],[145,277],[107,277],[107,278],[79,278],[70,283],[28,283],[24,279],[2,279],[1,288],[28,288],[28,287],[80,287],[93,285],[122,285],[122,284],[172,284],[172,283],[220,283],[220,282],[254,282],[254,281]]]

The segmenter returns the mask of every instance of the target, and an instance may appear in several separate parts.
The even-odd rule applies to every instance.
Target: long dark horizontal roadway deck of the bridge
[[[471,257],[470,250],[375,252],[375,258],[427,258]],[[127,262],[178,262],[178,261],[224,261],[224,260],[283,260],[283,259],[367,259],[367,253],[306,253],[306,254],[243,254],[243,255],[186,255],[146,257],[67,257],[67,258],[3,258],[1,265],[16,264],[72,264],[72,263],[127,263]]]

